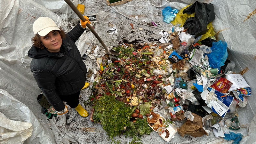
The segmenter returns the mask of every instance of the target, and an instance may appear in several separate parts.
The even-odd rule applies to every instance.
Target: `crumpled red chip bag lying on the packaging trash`
[[[211,85],[218,92],[227,93],[232,83],[223,77],[218,77]]]

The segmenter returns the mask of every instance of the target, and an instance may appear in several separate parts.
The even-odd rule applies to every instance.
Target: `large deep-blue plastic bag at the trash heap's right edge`
[[[212,52],[206,54],[209,58],[209,65],[211,68],[218,68],[220,74],[220,67],[224,66],[225,61],[228,58],[227,43],[225,41],[218,41],[212,43]]]

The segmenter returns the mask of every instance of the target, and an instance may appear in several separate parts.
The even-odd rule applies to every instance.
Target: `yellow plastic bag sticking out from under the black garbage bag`
[[[191,17],[195,17],[195,12],[192,13],[192,14],[187,14],[187,13],[183,13],[183,11],[189,7],[190,5],[182,8],[176,15],[176,18],[171,22],[173,25],[176,25],[176,24],[181,24],[181,26],[183,27],[184,23],[186,22],[186,20],[188,18],[191,18]],[[202,41],[210,36],[214,36],[216,33],[214,32],[213,30],[213,26],[212,26],[212,22],[208,23],[207,25],[207,31],[205,34],[202,35],[202,38],[199,40]]]

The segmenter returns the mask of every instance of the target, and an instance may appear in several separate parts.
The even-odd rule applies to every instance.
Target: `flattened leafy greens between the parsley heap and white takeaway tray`
[[[147,119],[136,119],[136,122],[128,122],[126,131],[124,132],[125,138],[128,136],[132,137],[132,142],[140,140],[139,137],[141,137],[143,134],[150,134],[153,130],[148,126]]]

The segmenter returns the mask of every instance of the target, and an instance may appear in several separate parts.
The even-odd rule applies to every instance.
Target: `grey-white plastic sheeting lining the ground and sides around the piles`
[[[105,0],[92,0],[83,1],[83,4],[85,4],[86,8],[85,14],[98,13],[100,22],[94,25],[96,26],[95,31],[101,36],[103,42],[108,47],[111,47],[112,45],[116,45],[123,37],[131,41],[140,39],[138,36],[150,36],[152,39],[160,39],[159,31],[172,30],[170,24],[164,24],[161,10],[167,6],[180,10],[187,6],[187,4],[193,4],[194,2],[195,0],[175,0],[175,2],[166,0],[133,0],[119,6],[107,6]],[[233,61],[236,65],[234,72],[240,73],[244,70],[243,77],[251,86],[252,96],[247,97],[248,103],[246,107],[238,110],[241,129],[237,132],[244,135],[243,139],[240,141],[241,143],[253,143],[256,141],[256,97],[254,96],[256,92],[254,82],[256,52],[253,51],[256,45],[254,30],[256,29],[256,16],[255,14],[250,15],[250,13],[255,9],[253,7],[254,2],[250,0],[243,2],[200,0],[200,2],[211,2],[214,5],[216,18],[212,24],[216,32],[216,38],[217,40],[227,42],[228,59]],[[77,3],[78,1],[74,0],[74,4]],[[0,15],[0,112],[12,120],[30,122],[33,124],[32,135],[28,140],[25,140],[24,143],[55,143],[54,141],[58,139],[76,139],[76,141],[84,143],[86,136],[83,137],[78,134],[80,137],[77,137],[76,134],[70,131],[66,134],[62,133],[54,122],[51,124],[50,131],[49,125],[45,122],[46,117],[41,114],[40,105],[36,101],[36,96],[40,93],[40,90],[31,75],[29,67],[31,59],[27,56],[28,49],[32,45],[30,40],[34,35],[32,25],[36,18],[39,16],[50,17],[57,25],[67,31],[70,30],[72,25],[79,19],[62,0],[53,2],[50,0],[3,0],[0,1],[0,5],[5,5],[0,7],[0,12],[4,13]],[[135,16],[140,17],[137,20]],[[154,21],[157,26],[148,26],[145,21]],[[112,24],[117,27],[117,34],[108,35],[108,22],[112,22]],[[135,29],[134,32],[136,33],[131,33],[132,30],[130,29],[129,23],[133,23],[135,28],[140,27],[144,30]],[[145,33],[145,31],[147,33]],[[81,37],[83,38],[76,42],[81,55],[83,55],[88,48],[92,47],[92,43],[99,44],[92,36],[91,32],[85,32]],[[87,68],[93,68],[92,60],[88,58],[85,62],[87,62]],[[9,101],[11,101],[11,103],[8,104]],[[61,118],[63,119],[63,117]],[[80,123],[82,121],[83,120],[81,120]],[[100,125],[88,123],[87,127],[88,126],[95,127],[101,135],[106,136],[106,133],[104,133]],[[54,136],[59,132],[63,137]],[[90,136],[90,133],[87,134]],[[52,135],[54,138],[52,138]],[[92,136],[89,140],[93,138]],[[120,137],[120,140],[123,139],[125,138]],[[101,139],[97,138],[94,140]],[[129,140],[131,139],[127,141],[129,142]],[[218,140],[220,141],[220,139],[215,140],[211,132],[208,137],[202,136],[193,139],[191,139],[190,136],[181,138],[179,134],[175,134],[172,143],[204,142],[210,144],[211,141],[216,142]],[[106,143],[108,142],[106,139],[104,141]],[[150,136],[143,136],[143,143],[152,143],[152,141],[154,143],[163,143],[163,140],[157,133],[152,132]],[[100,142],[103,143],[102,141]]]

